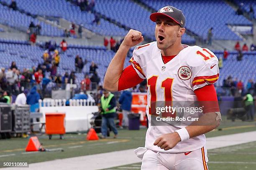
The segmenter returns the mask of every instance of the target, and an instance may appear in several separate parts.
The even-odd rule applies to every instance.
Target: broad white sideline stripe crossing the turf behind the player
[[[206,148],[210,150],[253,141],[256,141],[256,131],[207,138]],[[95,155],[51,160],[41,163],[32,163],[29,165],[29,168],[2,168],[1,170],[100,170],[133,163],[140,163],[141,160],[136,157],[133,150],[134,149],[120,150],[110,153],[100,153]]]

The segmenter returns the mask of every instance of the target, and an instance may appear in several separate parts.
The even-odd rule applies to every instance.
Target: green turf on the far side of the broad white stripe
[[[223,121],[223,124],[219,128],[222,128],[222,130],[213,130],[207,133],[206,136],[214,137],[256,130],[255,122],[241,121]],[[52,140],[49,140],[47,135],[38,136],[39,141],[43,143],[45,148],[63,148],[64,152],[26,153],[25,148],[29,140],[28,138],[0,140],[0,167],[3,167],[3,162],[36,163],[138,148],[139,146],[144,146],[146,128],[142,128],[141,130],[119,130],[117,139],[113,139],[113,133],[111,135],[112,137],[110,136],[107,139],[96,141],[85,140],[86,134],[66,134],[64,135],[64,140],[60,140],[59,135],[54,135]],[[254,158],[256,158],[255,155]]]

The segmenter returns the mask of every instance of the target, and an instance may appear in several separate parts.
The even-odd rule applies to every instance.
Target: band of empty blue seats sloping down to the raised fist
[[[1,0],[10,4],[11,0]],[[124,36],[127,30],[118,27],[104,19],[100,19],[100,25],[93,24],[94,14],[81,12],[80,8],[65,0],[18,0],[19,9],[40,16],[53,16],[64,18],[76,24],[83,24],[85,28],[100,35]],[[96,2],[97,3],[97,2]]]

